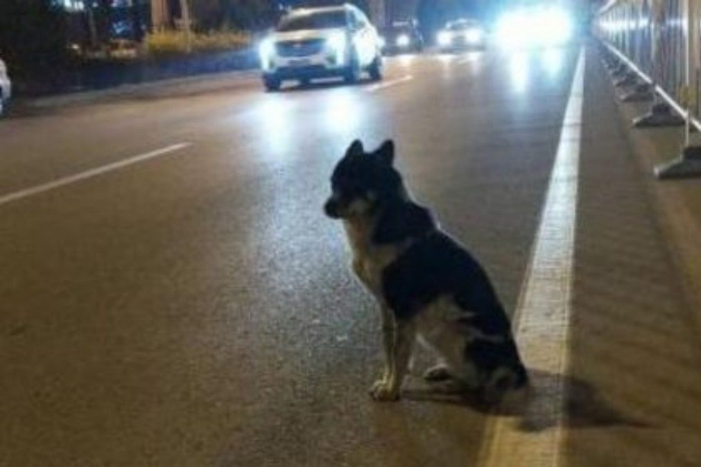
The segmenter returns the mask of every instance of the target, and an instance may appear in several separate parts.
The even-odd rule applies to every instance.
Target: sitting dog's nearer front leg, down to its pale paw
[[[407,375],[411,349],[414,347],[416,328],[411,321],[399,321],[393,328],[393,340],[388,346],[390,351],[390,372],[387,379],[381,379],[372,387],[375,400],[397,400],[400,397],[402,381]]]

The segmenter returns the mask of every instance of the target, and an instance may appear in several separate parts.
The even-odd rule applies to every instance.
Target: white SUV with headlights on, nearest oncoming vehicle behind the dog
[[[293,10],[260,45],[263,84],[278,90],[285,80],[303,84],[338,76],[358,81],[363,71],[382,78],[381,42],[359,8],[345,4]]]

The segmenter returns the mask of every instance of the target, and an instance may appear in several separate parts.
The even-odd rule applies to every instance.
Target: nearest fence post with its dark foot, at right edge
[[[681,179],[701,176],[701,146],[691,144],[691,99],[689,98],[689,90],[692,85],[692,67],[696,64],[695,57],[700,52],[697,48],[697,40],[699,32],[694,18],[697,17],[698,11],[695,8],[694,0],[686,0],[686,64],[685,64],[685,106],[686,118],[684,131],[684,148],[681,151],[679,158],[667,162],[667,164],[655,167],[655,175],[658,179]],[[695,69],[695,67],[694,67]],[[694,80],[695,81],[695,80]],[[697,86],[698,83],[693,83]]]

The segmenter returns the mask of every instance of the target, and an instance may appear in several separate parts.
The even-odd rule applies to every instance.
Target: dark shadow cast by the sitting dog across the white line
[[[540,370],[531,370],[529,375],[529,388],[496,406],[486,404],[476,394],[465,393],[450,384],[426,384],[423,388],[407,389],[403,396],[409,400],[461,405],[496,417],[517,418],[519,430],[526,432],[544,431],[557,424],[571,428],[652,428],[644,421],[622,414],[582,379]],[[564,394],[564,400],[560,400],[560,394]],[[558,405],[564,405],[564,417],[557,410]]]

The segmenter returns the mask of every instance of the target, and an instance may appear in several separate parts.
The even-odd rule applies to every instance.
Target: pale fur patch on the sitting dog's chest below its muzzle
[[[382,272],[402,252],[402,246],[372,242],[374,224],[367,221],[343,223],[353,252],[353,272],[374,295],[381,298]]]

